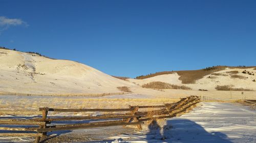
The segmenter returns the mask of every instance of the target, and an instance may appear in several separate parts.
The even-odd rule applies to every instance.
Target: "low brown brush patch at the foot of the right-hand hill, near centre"
[[[160,82],[160,81],[154,81],[150,83],[146,83],[142,85],[142,88],[147,88],[147,89],[181,89],[181,90],[191,90],[191,88],[186,87],[185,85],[175,85],[175,84],[169,84],[165,82]]]

